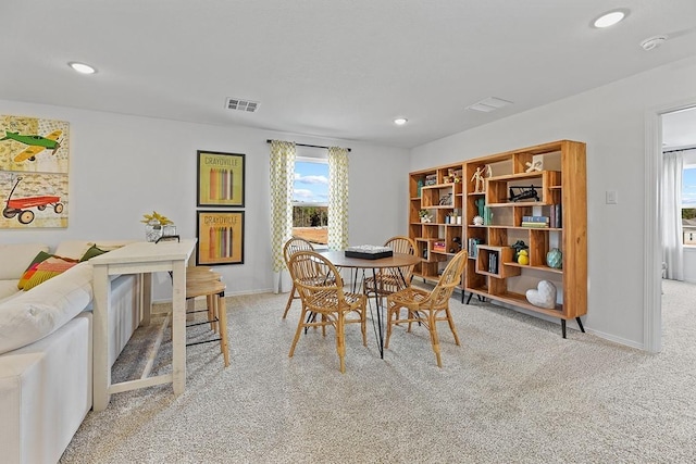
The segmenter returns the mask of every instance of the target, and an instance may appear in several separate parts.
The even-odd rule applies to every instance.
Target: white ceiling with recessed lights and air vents
[[[630,13],[591,26],[612,8]],[[0,17],[0,99],[402,148],[696,55],[694,0],[2,0]],[[465,110],[487,97],[513,104]]]

